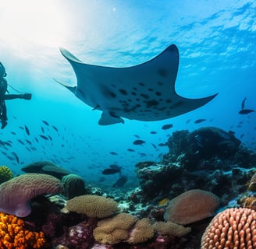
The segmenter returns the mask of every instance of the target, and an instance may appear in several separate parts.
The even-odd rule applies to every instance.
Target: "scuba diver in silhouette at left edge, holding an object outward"
[[[14,100],[14,99],[24,99],[31,100],[31,93],[23,93],[23,94],[5,94],[9,93],[7,90],[7,80],[5,67],[0,62],[0,119],[2,121],[2,129],[7,125],[7,109],[5,105],[5,100]]]

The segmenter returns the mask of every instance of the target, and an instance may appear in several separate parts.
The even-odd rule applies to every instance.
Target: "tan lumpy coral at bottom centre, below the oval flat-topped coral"
[[[94,239],[101,244],[118,244],[129,239],[129,230],[136,223],[137,218],[128,213],[102,219],[94,229]]]

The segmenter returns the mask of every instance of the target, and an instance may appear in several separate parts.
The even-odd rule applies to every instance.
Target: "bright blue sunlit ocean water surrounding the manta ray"
[[[9,121],[0,139],[11,146],[1,146],[0,164],[21,174],[27,163],[52,160],[97,184],[101,171],[115,163],[129,176],[127,185],[134,187],[134,165],[160,160],[167,147],[158,144],[174,131],[216,126],[236,132],[255,150],[256,114],[238,114],[244,97],[246,107],[256,109],[255,10],[255,2],[241,0],[1,1],[0,61],[9,92],[18,89],[33,97],[7,101]],[[179,117],[100,126],[101,112],[92,111],[54,80],[76,84],[59,47],[88,64],[126,67],[154,58],[170,44],[180,51],[177,93],[189,98],[219,93],[204,107]],[[200,118],[206,121],[194,124]],[[162,130],[166,124],[173,128]],[[137,137],[146,143],[134,146]],[[111,185],[117,178],[109,176],[111,181],[101,184]]]

